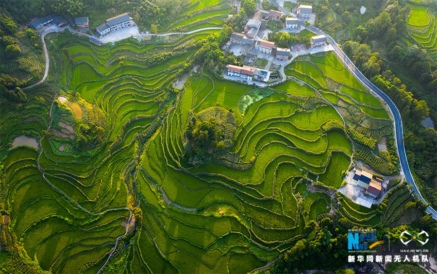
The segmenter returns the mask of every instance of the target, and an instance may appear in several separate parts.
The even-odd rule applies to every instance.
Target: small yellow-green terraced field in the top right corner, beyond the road
[[[411,44],[416,42],[421,47],[429,52],[429,54],[437,58],[437,26],[436,26],[436,10],[425,5],[410,4],[411,14],[407,20],[407,27]]]

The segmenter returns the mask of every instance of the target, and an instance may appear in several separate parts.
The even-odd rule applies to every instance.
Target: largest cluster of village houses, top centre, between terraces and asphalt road
[[[300,30],[305,26],[303,20],[308,20],[312,15],[312,6],[300,5],[296,10],[296,17],[286,17],[284,29],[286,31]],[[246,56],[246,60],[251,60],[258,53],[274,56],[274,60],[286,61],[289,59],[291,50],[289,48],[279,48],[274,42],[262,39],[261,28],[266,28],[269,20],[281,21],[283,13],[277,10],[257,10],[250,18],[242,33],[234,32],[230,37],[230,47],[233,45],[241,46],[241,54]],[[310,40],[311,47],[323,46],[327,43],[325,35],[313,36]],[[267,68],[267,67],[266,67]],[[266,69],[254,68],[250,66],[238,67],[227,65],[224,71],[225,75],[240,77],[243,80],[269,82],[271,72]]]

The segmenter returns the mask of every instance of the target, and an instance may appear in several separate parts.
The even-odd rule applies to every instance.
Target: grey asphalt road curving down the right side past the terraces
[[[294,14],[288,12],[286,9],[284,9],[281,5],[279,5],[278,2],[275,0],[269,0],[272,4],[276,5],[284,14],[294,16]],[[303,26],[305,25],[304,22],[301,21],[301,24]],[[422,194],[420,193],[419,188],[416,186],[416,183],[414,182],[413,176],[410,171],[410,167],[408,166],[408,160],[405,153],[405,147],[403,145],[403,129],[402,129],[402,118],[401,113],[399,112],[396,105],[391,101],[391,99],[385,94],[381,89],[379,89],[377,86],[373,85],[372,82],[367,79],[361,71],[359,71],[358,68],[355,67],[353,62],[349,59],[349,57],[340,49],[336,41],[329,36],[328,34],[323,33],[319,29],[316,29],[315,27],[308,25],[308,30],[315,34],[323,34],[326,35],[328,38],[329,43],[333,46],[334,51],[336,55],[340,58],[342,63],[346,65],[346,67],[349,69],[349,71],[357,78],[364,86],[375,92],[381,99],[384,100],[384,102],[387,103],[388,107],[390,108],[390,111],[394,118],[394,127],[395,127],[395,135],[396,135],[396,143],[397,143],[397,150],[399,154],[399,159],[401,161],[401,172],[404,173],[405,179],[407,180],[408,184],[412,186],[412,191],[415,192],[419,199],[423,201],[423,203],[427,204],[425,199],[423,199]],[[433,218],[437,220],[437,211],[432,208],[431,206],[426,207],[426,213],[431,213]]]

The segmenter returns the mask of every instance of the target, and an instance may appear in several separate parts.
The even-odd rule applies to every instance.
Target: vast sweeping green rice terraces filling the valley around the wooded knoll
[[[2,125],[9,127],[2,131],[2,148],[23,129],[46,136],[42,151],[20,146],[1,154],[12,231],[44,270],[96,273],[126,233],[116,253],[126,258],[129,273],[247,273],[297,240],[310,239],[305,224],[329,212],[330,197],[308,194],[303,182],[311,172],[319,183],[336,188],[349,167],[353,143],[344,126],[326,129],[328,122],[346,123],[375,138],[392,130],[390,120],[372,118],[349,102],[381,108],[352,79],[341,81],[344,68],[331,55],[287,70],[307,77],[303,80],[320,91],[287,81],[258,96],[252,86],[217,79],[200,67],[176,94],[171,84],[197,50],[195,43],[153,65],[148,58],[191,38],[96,47],[59,36],[57,77],[92,106],[82,109],[82,122],[103,130],[101,141],[86,151],[68,137],[46,133],[49,125],[59,129],[59,121],[75,121],[50,112],[59,94],[47,86],[28,94],[42,96],[45,103],[33,101],[20,109],[21,123],[6,119]],[[323,91],[331,91],[318,64],[332,69],[329,77],[344,87],[344,92],[332,91],[335,103],[323,97]],[[239,105],[243,96],[252,95],[257,99]],[[229,151],[187,161],[190,148],[183,133],[195,114],[228,115]],[[8,112],[8,118],[14,115]],[[308,214],[299,211],[297,192],[305,192]],[[351,222],[370,214],[353,212],[344,213]],[[379,223],[375,218],[366,222]],[[115,261],[110,264],[117,268]]]

